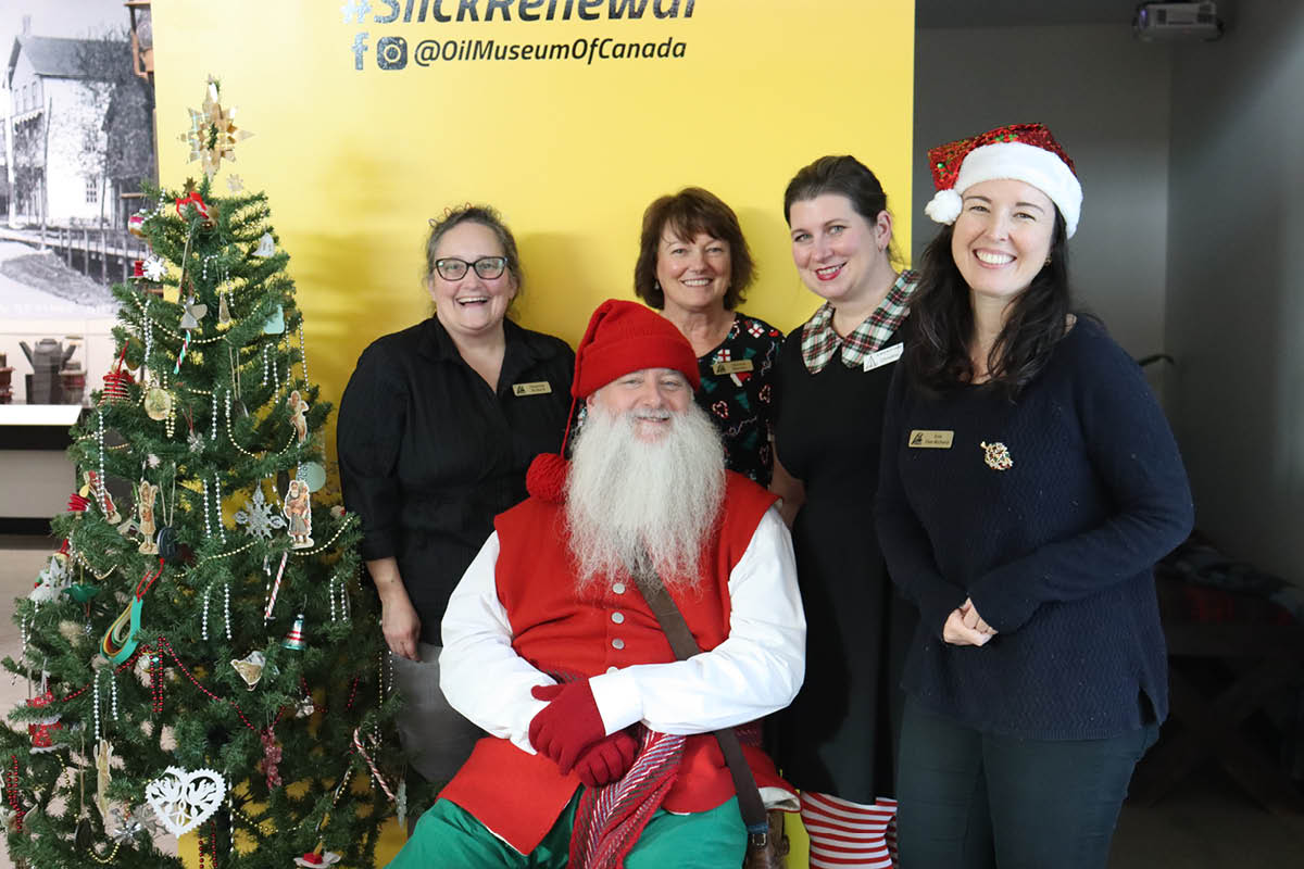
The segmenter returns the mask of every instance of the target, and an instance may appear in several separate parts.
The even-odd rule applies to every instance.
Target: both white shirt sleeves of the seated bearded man
[[[498,599],[498,535],[485,541],[445,612],[439,688],[449,704],[522,750],[545,702],[529,689],[554,680],[511,646]],[[711,651],[660,664],[635,664],[589,684],[608,734],[643,722],[664,734],[704,734],[763,718],[790,704],[806,666],[806,618],[788,528],[775,508],[762,517],[729,575],[729,637]]]

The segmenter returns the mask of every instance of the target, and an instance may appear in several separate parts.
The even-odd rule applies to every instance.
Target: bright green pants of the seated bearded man
[[[531,853],[519,853],[462,806],[438,800],[389,869],[533,869],[566,865],[579,792]],[[747,830],[737,797],[709,812],[670,814],[657,809],[625,860],[626,869],[728,869],[741,866]]]

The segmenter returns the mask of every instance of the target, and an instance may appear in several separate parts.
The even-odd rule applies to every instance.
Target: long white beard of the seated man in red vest
[[[664,418],[655,442],[634,433],[639,417]],[[592,408],[575,440],[566,479],[566,524],[580,593],[604,576],[651,560],[666,588],[698,584],[702,547],[725,490],[720,435],[695,404],[687,413]]]

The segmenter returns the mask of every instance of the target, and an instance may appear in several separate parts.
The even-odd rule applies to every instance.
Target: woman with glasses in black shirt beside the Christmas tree
[[[441,783],[481,734],[439,692],[439,621],[493,517],[524,500],[531,460],[561,446],[575,356],[506,319],[522,270],[493,208],[466,206],[430,225],[434,317],[363,352],[340,401],[338,452],[406,701],[399,736],[413,769]]]

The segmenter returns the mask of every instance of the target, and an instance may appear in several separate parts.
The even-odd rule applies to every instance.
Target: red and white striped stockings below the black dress
[[[801,796],[802,823],[811,840],[811,869],[892,869],[896,800],[878,797],[874,805],[862,805],[812,791],[802,791]]]

